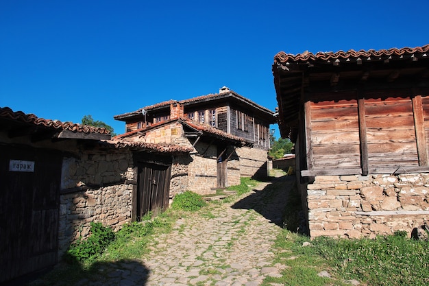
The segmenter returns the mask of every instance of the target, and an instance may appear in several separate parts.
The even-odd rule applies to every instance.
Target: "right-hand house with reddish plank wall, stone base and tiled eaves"
[[[272,71],[310,236],[373,237],[426,224],[429,45],[280,52]]]

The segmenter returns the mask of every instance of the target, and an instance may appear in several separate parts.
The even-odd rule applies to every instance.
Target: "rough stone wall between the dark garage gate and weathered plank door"
[[[59,254],[89,234],[90,222],[118,230],[132,219],[134,167],[131,152],[64,158],[60,194]]]

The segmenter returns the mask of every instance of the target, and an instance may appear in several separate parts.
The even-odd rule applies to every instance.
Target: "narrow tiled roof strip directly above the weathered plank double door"
[[[171,144],[154,144],[154,143],[145,143],[139,141],[125,141],[125,140],[102,140],[102,143],[110,145],[114,148],[137,148],[152,150],[160,153],[189,153],[193,151],[192,147],[185,147],[180,145],[171,145]]]

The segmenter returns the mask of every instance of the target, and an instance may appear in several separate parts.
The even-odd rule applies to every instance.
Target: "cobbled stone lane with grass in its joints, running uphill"
[[[156,237],[146,257],[109,270],[101,285],[252,286],[279,276],[282,266],[273,264],[270,248],[292,182],[263,182],[232,204],[212,204],[178,219],[171,233]]]

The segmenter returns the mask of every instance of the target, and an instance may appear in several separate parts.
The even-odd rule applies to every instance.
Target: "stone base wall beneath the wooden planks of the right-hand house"
[[[429,220],[429,174],[316,176],[306,192],[311,237],[411,235]]]

